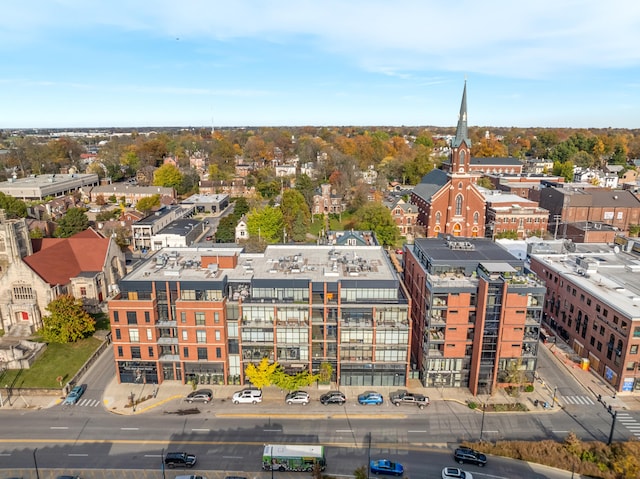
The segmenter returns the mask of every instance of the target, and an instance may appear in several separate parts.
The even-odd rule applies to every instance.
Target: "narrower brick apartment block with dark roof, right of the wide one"
[[[405,248],[412,299],[411,362],[428,387],[490,394],[532,380],[537,366],[544,284],[498,244],[453,236]]]

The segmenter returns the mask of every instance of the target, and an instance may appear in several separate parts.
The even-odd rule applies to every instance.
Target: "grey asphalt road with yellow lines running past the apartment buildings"
[[[564,396],[587,394],[573,377],[563,376],[548,360],[541,355],[540,371],[550,394],[556,387],[563,389]],[[86,398],[100,399],[113,374],[113,352],[108,349],[83,381],[89,386]],[[175,400],[166,404],[164,410],[181,407],[184,403]],[[236,406],[229,401],[214,400],[197,407],[200,414],[191,416],[164,414],[161,409],[118,416],[105,410],[102,404],[0,411],[0,468],[32,467],[33,451],[37,448],[41,468],[157,470],[162,452],[177,449],[198,455],[197,470],[257,471],[264,444],[294,442],[326,445],[327,472],[332,475],[352,474],[356,467],[366,464],[370,453],[373,459],[402,462],[409,477],[428,478],[439,477],[442,467],[454,465],[451,452],[456,444],[461,440],[478,440],[481,434],[492,441],[562,440],[571,431],[584,439],[606,441],[611,426],[611,416],[599,403],[571,405],[556,413],[484,415],[463,404],[435,397],[424,411],[385,404],[367,407],[370,414],[366,415],[361,414],[362,406],[356,404],[284,406],[266,401]],[[616,428],[614,440],[629,437],[624,427]],[[530,467],[492,458],[484,469],[475,466],[465,469],[481,479],[567,477],[546,470],[533,471]]]

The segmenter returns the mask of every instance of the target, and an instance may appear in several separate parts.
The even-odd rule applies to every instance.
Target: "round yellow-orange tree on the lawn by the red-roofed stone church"
[[[46,307],[42,319],[42,337],[50,343],[69,343],[86,338],[96,330],[95,320],[84,310],[82,300],[71,295],[60,296]]]

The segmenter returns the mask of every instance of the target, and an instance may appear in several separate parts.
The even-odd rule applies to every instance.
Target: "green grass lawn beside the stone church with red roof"
[[[101,341],[96,338],[81,339],[76,343],[51,343],[42,356],[29,369],[9,369],[0,375],[0,385],[14,388],[59,388],[71,379],[87,359],[98,349]]]

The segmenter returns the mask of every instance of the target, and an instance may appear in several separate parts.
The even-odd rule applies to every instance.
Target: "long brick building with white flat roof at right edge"
[[[640,394],[640,242],[531,251],[546,281],[543,321],[618,392]]]

